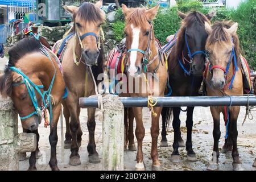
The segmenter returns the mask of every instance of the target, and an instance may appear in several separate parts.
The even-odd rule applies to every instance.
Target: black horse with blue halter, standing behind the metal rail
[[[204,15],[197,11],[188,14],[178,14],[182,20],[181,28],[176,33],[173,47],[168,55],[169,84],[171,96],[198,96],[203,73],[205,70],[205,43],[208,37],[204,23],[209,22],[213,14]],[[167,44],[168,46],[168,44]],[[167,52],[166,47],[164,51]],[[187,107],[187,141],[184,144],[180,133],[181,107],[163,107],[162,110],[162,140],[160,146],[167,147],[166,126],[173,111],[172,126],[174,127],[174,151],[171,154],[172,162],[180,162],[179,147],[186,147],[187,159],[196,161],[196,154],[192,149],[193,109]]]

